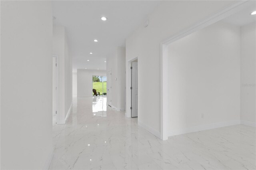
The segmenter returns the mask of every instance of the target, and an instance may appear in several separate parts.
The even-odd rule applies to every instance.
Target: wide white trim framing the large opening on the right
[[[168,136],[168,79],[164,79],[163,77],[168,76],[168,45],[170,43],[176,42],[177,40],[180,40],[181,38],[188,36],[198,30],[201,30],[207,26],[210,26],[214,24],[215,22],[218,22],[232,14],[235,14],[236,12],[239,12],[240,10],[246,8],[247,6],[250,6],[250,2],[248,0],[246,1],[236,1],[233,4],[227,6],[226,8],[223,8],[222,10],[219,10],[218,12],[208,16],[204,20],[200,20],[196,22],[191,27],[182,30],[181,32],[178,32],[177,34],[174,34],[174,36],[171,36],[165,40],[163,40],[160,43],[161,53],[160,53],[160,67],[161,67],[161,111],[160,111],[160,120],[161,120],[161,139],[167,140]],[[163,93],[164,91],[164,93]]]

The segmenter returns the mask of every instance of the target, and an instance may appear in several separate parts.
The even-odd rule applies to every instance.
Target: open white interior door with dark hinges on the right
[[[138,117],[138,62],[132,62],[132,117]]]

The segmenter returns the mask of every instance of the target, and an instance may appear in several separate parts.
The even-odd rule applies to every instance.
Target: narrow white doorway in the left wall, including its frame
[[[52,124],[59,123],[59,66],[58,56],[52,57]]]

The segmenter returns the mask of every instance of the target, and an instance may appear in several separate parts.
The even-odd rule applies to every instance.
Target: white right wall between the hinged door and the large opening
[[[142,22],[126,39],[126,65],[138,57],[139,125],[143,123],[147,130],[160,135],[160,42],[232,3],[234,1],[165,1],[148,16],[148,27],[144,28]],[[126,67],[126,73],[128,71]],[[126,77],[127,83],[128,79]],[[126,101],[130,101],[128,93],[130,90],[126,88]],[[127,102],[126,112],[129,108]]]

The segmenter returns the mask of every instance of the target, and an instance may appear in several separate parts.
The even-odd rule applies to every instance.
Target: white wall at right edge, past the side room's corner
[[[256,23],[241,28],[241,120],[256,123]]]

